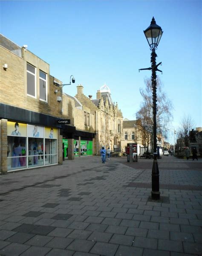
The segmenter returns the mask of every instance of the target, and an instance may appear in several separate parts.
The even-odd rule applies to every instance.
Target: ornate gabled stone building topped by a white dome
[[[77,86],[77,94],[75,96],[79,102],[88,108],[87,115],[94,116],[90,122],[90,127],[94,128],[95,141],[94,141],[94,154],[99,154],[100,148],[110,148],[112,152],[121,151],[121,137],[123,132],[123,115],[121,110],[118,109],[118,104],[114,103],[111,98],[109,87],[105,84],[96,93],[96,99],[92,99],[84,95],[84,87]],[[85,113],[85,112],[84,112]],[[85,119],[85,116],[84,116]],[[80,124],[77,124],[77,128]]]

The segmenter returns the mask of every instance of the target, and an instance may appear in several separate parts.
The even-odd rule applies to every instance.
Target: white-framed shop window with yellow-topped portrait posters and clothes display
[[[7,171],[58,163],[58,129],[7,122]]]

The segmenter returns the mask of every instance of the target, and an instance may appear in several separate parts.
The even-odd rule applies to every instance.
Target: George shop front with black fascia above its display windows
[[[62,164],[61,133],[72,138],[75,127],[63,127],[58,120],[61,119],[0,103],[0,173]],[[70,144],[69,140],[69,148]]]

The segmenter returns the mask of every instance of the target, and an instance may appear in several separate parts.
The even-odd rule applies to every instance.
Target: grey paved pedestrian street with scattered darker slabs
[[[78,157],[0,175],[0,256],[202,255],[202,159]]]

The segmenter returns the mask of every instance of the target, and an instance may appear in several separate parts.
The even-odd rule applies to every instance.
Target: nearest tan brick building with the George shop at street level
[[[1,173],[62,164],[65,135],[73,152],[75,101],[63,97],[55,81],[62,83],[50,75],[48,63],[0,35]]]

